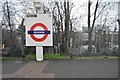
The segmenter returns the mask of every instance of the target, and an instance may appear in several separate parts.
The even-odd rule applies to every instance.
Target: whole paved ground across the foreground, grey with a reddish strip
[[[3,61],[3,67],[3,78],[118,77],[117,59]]]

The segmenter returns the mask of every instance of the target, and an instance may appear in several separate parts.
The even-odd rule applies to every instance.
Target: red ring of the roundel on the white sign
[[[35,29],[36,27],[42,27],[45,31],[48,30],[48,28],[47,28],[44,24],[42,24],[42,23],[36,23],[36,24],[34,24],[34,25],[31,27],[30,31],[34,31],[34,29]],[[43,36],[42,38],[36,38],[36,37],[34,36],[34,34],[30,34],[30,36],[31,36],[31,38],[32,38],[33,40],[35,40],[36,42],[42,42],[42,41],[44,41],[44,40],[47,38],[48,34],[44,34],[44,36]]]

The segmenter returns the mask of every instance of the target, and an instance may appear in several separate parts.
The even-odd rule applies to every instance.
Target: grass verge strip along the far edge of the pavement
[[[27,54],[24,60],[33,60],[36,55],[33,53]],[[20,57],[2,57],[2,60],[21,59]],[[71,59],[70,56],[60,55],[59,53],[46,53],[44,59]],[[118,56],[78,56],[72,59],[118,59]]]

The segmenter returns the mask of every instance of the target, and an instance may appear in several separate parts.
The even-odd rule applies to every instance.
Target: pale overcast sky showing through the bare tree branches
[[[1,0],[0,5],[2,6],[5,1],[6,0]],[[13,4],[16,4],[15,5],[16,10],[18,10],[18,11],[20,10],[19,15],[22,15],[22,17],[24,17],[24,14],[26,13],[26,11],[28,11],[31,8],[31,6],[33,6],[32,1],[34,1],[34,0],[8,0],[8,1]],[[29,4],[26,4],[25,5],[26,7],[23,8],[21,6],[21,4],[19,3],[19,1],[21,1],[21,2],[26,1]],[[55,1],[55,0],[42,0],[42,1],[47,2],[47,1]],[[64,1],[64,0],[56,0],[56,1]],[[91,0],[91,1],[93,2],[92,4],[94,5],[96,0]],[[111,3],[115,3],[115,2],[119,2],[120,0],[100,0],[100,1],[104,1],[104,2],[110,1]],[[79,18],[80,16],[83,16],[80,19],[78,19],[78,21],[75,23],[75,26],[81,30],[82,26],[87,26],[87,5],[88,5],[87,2],[88,2],[88,0],[71,0],[70,2],[74,3],[74,5],[75,5],[71,12],[71,18]],[[92,11],[91,13],[93,13],[93,11],[94,11],[93,5],[91,6],[91,11]],[[1,10],[1,6],[0,6],[0,10]],[[110,12],[109,18],[111,18],[111,19],[109,19],[108,21],[109,21],[109,23],[111,23],[113,19],[117,18],[118,5],[115,5],[111,10],[108,10],[107,12]],[[0,20],[2,17],[1,14],[2,14],[2,12],[0,12]],[[18,21],[20,21],[19,16],[16,15],[16,18]],[[104,18],[104,16],[103,16],[103,18]],[[99,20],[100,20],[100,18],[96,22],[97,24],[99,24],[99,22],[100,22]],[[91,19],[91,21],[92,21],[92,19]],[[115,22],[113,24],[109,24],[109,23],[107,23],[107,25],[109,25],[109,26],[111,26],[113,24],[114,24],[114,26],[117,25],[117,22]]]

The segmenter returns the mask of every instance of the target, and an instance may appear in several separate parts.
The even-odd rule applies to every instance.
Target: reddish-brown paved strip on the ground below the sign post
[[[3,78],[54,78],[53,73],[42,73],[48,62],[30,61],[14,73],[4,74]]]

